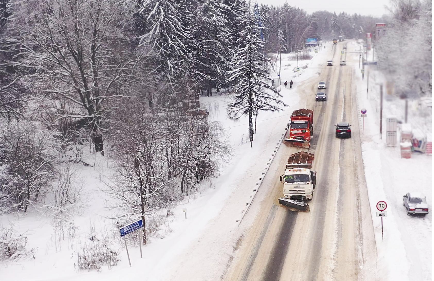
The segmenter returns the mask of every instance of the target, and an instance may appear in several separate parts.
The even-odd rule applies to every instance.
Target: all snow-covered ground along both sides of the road
[[[327,45],[330,46],[331,45]],[[358,48],[358,47],[357,47]],[[328,51],[328,50],[327,50]],[[213,97],[201,97],[201,103],[210,109],[210,119],[221,123],[226,130],[227,141],[233,147],[233,158],[222,163],[220,176],[202,184],[195,194],[186,197],[173,215],[162,225],[162,229],[149,239],[143,247],[140,258],[138,247],[130,246],[132,267],[122,241],[118,238],[109,208],[110,197],[103,193],[109,162],[104,157],[87,159],[94,167],[77,166],[85,182],[85,202],[71,208],[69,220],[76,226],[73,239],[59,236],[59,229],[53,223],[53,211],[41,208],[28,214],[14,214],[0,217],[0,224],[8,227],[13,223],[17,233],[25,233],[27,249],[36,249],[35,259],[9,262],[0,266],[1,280],[115,280],[129,276],[141,280],[219,280],[230,262],[237,240],[243,235],[250,222],[238,226],[236,220],[242,217],[241,210],[251,202],[253,187],[265,172],[266,164],[272,158],[290,113],[304,104],[297,94],[297,86],[303,80],[316,75],[318,65],[327,59],[328,52],[321,49],[309,61],[299,61],[302,69],[297,77],[293,72],[296,61],[288,61],[282,55],[281,94],[289,105],[277,113],[260,113],[257,133],[250,148],[247,120],[237,123],[226,117],[225,93]],[[369,55],[371,58],[372,56]],[[308,68],[302,66],[308,64]],[[279,65],[277,61],[276,66]],[[379,137],[379,83],[384,83],[381,74],[370,69],[369,94],[366,94],[366,73],[362,81],[358,73],[358,107],[368,110],[365,119],[365,136],[362,139],[362,153],[368,184],[369,201],[378,250],[380,273],[385,280],[431,280],[432,278],[432,213],[425,217],[407,216],[402,206],[402,196],[409,191],[423,192],[432,210],[432,160],[431,156],[412,154],[411,159],[401,159],[399,147],[385,146],[385,123],[383,136]],[[277,73],[273,73],[277,77]],[[375,79],[374,79],[375,77]],[[284,81],[294,81],[294,88],[285,88]],[[416,113],[417,103],[410,103],[409,123],[420,129],[431,130],[431,117],[423,118]],[[404,120],[404,101],[385,99],[383,122],[394,115]],[[431,116],[431,115],[430,115]],[[362,127],[362,126],[361,126]],[[398,132],[399,135],[399,132]],[[260,187],[266,188],[266,187]],[[381,220],[376,217],[376,203],[388,203],[388,216],[383,219],[384,240],[381,240]],[[260,201],[258,201],[260,202]],[[259,204],[259,203],[254,203]],[[182,209],[187,209],[187,219]],[[255,207],[250,212],[258,212]],[[51,214],[51,215],[50,215]],[[91,226],[94,229],[91,229]],[[74,267],[76,251],[80,244],[89,240],[92,232],[101,236],[105,233],[119,249],[121,261],[112,268],[98,271],[79,271]],[[191,273],[194,272],[194,275]],[[383,280],[383,279],[381,279]]]

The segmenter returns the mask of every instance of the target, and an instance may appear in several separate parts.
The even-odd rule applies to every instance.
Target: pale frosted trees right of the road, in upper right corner
[[[392,18],[376,42],[379,68],[401,98],[432,97],[432,1],[391,1]]]

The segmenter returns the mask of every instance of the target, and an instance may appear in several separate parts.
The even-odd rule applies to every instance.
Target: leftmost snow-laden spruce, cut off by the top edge
[[[156,55],[157,71],[173,81],[184,72],[188,61],[188,32],[185,5],[181,1],[144,0],[141,16],[147,21],[148,32],[140,37]]]

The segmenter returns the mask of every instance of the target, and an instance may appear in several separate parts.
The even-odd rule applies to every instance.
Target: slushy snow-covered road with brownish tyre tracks
[[[299,149],[281,145],[264,178],[264,200],[247,231],[225,280],[358,280],[362,271],[376,271],[376,250],[362,164],[358,112],[353,84],[355,60],[339,66],[344,43],[330,52],[319,77],[299,91],[314,110],[314,170],[318,179],[310,213],[279,206],[279,175],[288,156]],[[350,48],[350,44],[348,44]],[[315,102],[318,81],[326,81],[327,101]],[[303,103],[301,103],[303,104]],[[352,124],[351,139],[336,139],[334,124]],[[248,216],[248,214],[247,214]],[[372,279],[370,279],[372,280]]]

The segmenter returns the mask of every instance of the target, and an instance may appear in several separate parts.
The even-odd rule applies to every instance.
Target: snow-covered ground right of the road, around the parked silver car
[[[369,52],[368,60],[372,60],[372,52]],[[365,68],[364,81],[358,65],[355,69],[358,73],[358,107],[367,110],[362,155],[375,228],[378,268],[381,276],[387,276],[381,280],[432,280],[432,156],[414,152],[411,159],[401,158],[399,139],[396,147],[386,147],[385,119],[395,116],[404,122],[404,100],[387,97],[385,78],[375,67]],[[384,85],[385,97],[381,139],[380,84]],[[431,108],[421,107],[419,103],[409,102],[408,123],[413,128],[432,133]],[[362,118],[360,123],[362,125]],[[399,138],[399,126],[397,134]],[[427,216],[407,216],[402,197],[412,191],[422,192],[427,197],[430,210]],[[380,200],[388,204],[388,216],[383,218],[384,240],[381,238],[381,218],[376,216],[376,203]]]

